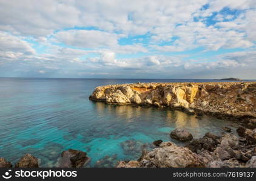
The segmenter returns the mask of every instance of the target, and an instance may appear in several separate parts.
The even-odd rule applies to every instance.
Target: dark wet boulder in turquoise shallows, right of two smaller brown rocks
[[[60,168],[79,168],[83,167],[84,164],[89,162],[89,157],[87,153],[80,150],[69,149],[62,151],[61,159],[59,160]]]

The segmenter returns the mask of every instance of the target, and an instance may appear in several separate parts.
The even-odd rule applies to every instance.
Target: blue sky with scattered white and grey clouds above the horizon
[[[0,0],[0,77],[256,79],[255,0]]]

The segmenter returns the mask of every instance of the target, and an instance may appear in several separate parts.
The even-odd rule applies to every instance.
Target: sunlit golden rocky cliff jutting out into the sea
[[[256,83],[135,83],[96,87],[90,100],[256,117]]]

